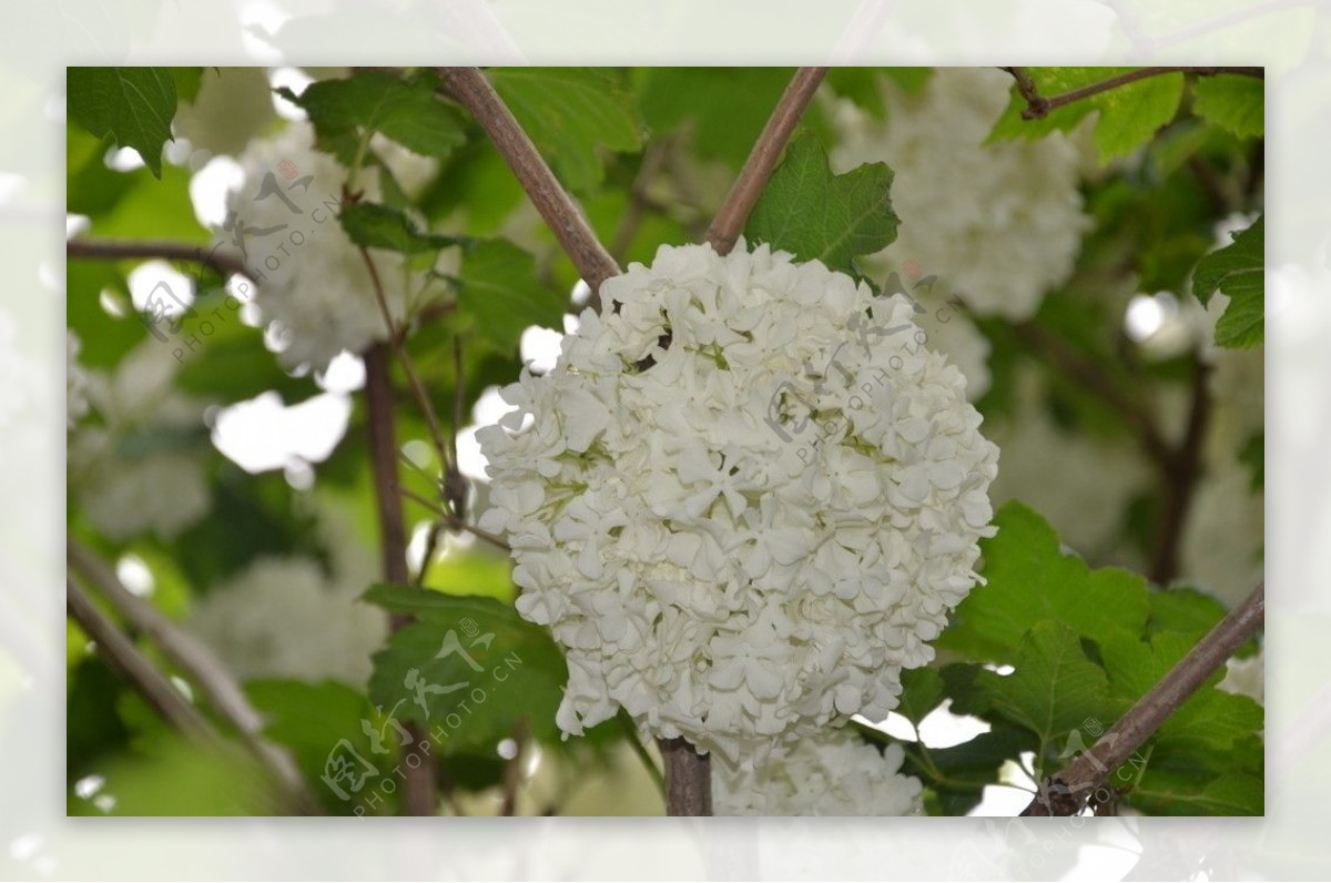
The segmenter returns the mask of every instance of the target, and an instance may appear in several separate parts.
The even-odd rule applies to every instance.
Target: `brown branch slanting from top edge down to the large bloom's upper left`
[[[582,210],[560,186],[550,165],[536,152],[531,139],[480,69],[439,68],[439,75],[447,93],[470,111],[490,136],[591,290],[599,290],[607,278],[619,276],[615,258],[596,240]]]

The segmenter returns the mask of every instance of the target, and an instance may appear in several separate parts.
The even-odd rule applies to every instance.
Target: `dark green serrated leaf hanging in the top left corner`
[[[138,150],[153,177],[162,173],[162,145],[172,140],[176,76],[172,68],[69,68],[69,119],[95,136]]]

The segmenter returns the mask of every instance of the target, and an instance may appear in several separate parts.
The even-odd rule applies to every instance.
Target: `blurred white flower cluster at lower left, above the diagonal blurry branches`
[[[307,555],[258,558],[190,610],[185,627],[238,678],[369,681],[387,634],[383,613],[359,601],[375,578],[374,555],[333,510],[318,533],[327,567]]]

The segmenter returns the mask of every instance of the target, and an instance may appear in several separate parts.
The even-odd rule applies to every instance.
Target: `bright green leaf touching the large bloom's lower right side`
[[[1097,639],[1146,625],[1146,581],[1126,570],[1091,570],[1059,550],[1058,535],[1038,513],[1012,501],[994,517],[998,534],[980,543],[985,585],[958,605],[941,649],[988,662],[1013,662],[1013,650],[1032,623],[1066,623]]]

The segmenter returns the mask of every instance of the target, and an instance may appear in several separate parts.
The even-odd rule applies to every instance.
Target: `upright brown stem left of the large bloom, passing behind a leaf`
[[[393,381],[389,376],[389,346],[375,344],[365,350],[365,397],[370,412],[370,462],[374,469],[374,499],[379,515],[379,555],[383,579],[410,585],[407,533],[402,517],[402,485],[398,478],[398,442],[393,421]],[[394,614],[393,629],[411,622],[410,615]],[[407,752],[421,763],[403,764],[402,804],[407,815],[434,815],[434,755],[417,725],[407,725],[411,743]]]

